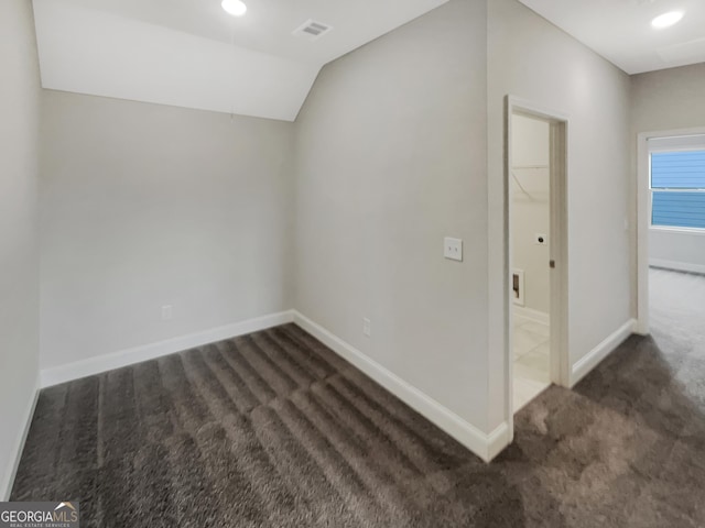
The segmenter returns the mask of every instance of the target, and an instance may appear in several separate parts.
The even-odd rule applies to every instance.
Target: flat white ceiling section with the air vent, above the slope
[[[243,16],[220,0],[62,0],[87,9],[322,66],[447,0],[243,0]],[[332,25],[317,42],[292,36],[308,19]]]

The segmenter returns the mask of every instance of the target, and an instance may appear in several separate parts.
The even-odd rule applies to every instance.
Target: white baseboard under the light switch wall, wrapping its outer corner
[[[323,342],[387,391],[400,398],[412,409],[423,415],[445,432],[455,438],[485,462],[492,460],[509,444],[509,427],[501,424],[489,435],[484,433],[455,413],[429,397],[413,385],[343,341],[322,326],[294,310],[294,322],[306,332]]]

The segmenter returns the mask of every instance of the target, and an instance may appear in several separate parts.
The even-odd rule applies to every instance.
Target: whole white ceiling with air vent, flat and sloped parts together
[[[44,88],[293,121],[326,63],[447,0],[33,0]],[[291,33],[332,25],[317,41]]]

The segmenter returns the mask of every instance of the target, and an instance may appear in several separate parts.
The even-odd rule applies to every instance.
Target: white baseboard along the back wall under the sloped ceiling
[[[191,333],[188,336],[166,339],[156,343],[144,344],[109,354],[89,358],[87,360],[76,361],[66,365],[44,369],[41,372],[41,386],[44,388],[52,385],[58,385],[59,383],[91,376],[94,374],[120,369],[142,361],[153,360],[162,355],[182,352],[184,350],[193,349],[194,346],[203,346],[204,344],[223,341],[224,339],[230,339],[237,336],[243,336],[246,333],[275,327],[278,324],[293,322],[293,320],[294,315],[291,310],[281,311],[279,314],[271,314],[254,319],[248,319],[246,321],[225,324],[203,332]]]

